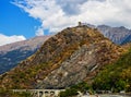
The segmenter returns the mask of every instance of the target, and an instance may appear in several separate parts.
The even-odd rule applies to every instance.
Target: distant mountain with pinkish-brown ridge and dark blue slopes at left
[[[0,46],[0,74],[16,66],[19,62],[36,52],[50,36],[38,36],[28,40]]]

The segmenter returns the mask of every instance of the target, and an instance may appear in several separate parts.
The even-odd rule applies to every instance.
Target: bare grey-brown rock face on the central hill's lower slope
[[[95,50],[96,48],[93,45],[82,46],[63,61],[60,68],[46,76],[39,88],[62,88],[83,81],[88,72],[96,66]]]

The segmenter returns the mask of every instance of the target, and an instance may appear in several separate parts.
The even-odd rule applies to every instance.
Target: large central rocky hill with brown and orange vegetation
[[[32,57],[0,76],[0,88],[64,88],[91,81],[124,52],[86,25],[50,37]]]

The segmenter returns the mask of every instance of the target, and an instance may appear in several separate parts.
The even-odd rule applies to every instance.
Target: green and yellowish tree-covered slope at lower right
[[[94,89],[131,92],[131,49],[117,62],[107,65],[96,76]]]

